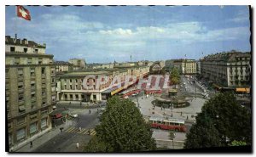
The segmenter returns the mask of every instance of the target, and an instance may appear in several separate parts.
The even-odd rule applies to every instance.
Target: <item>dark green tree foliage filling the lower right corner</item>
[[[236,97],[233,93],[219,93],[204,104],[201,113],[196,116],[196,124],[191,127],[186,141],[186,147],[205,147],[201,145],[201,140],[216,139],[217,134],[218,141],[225,146],[228,145],[227,139],[251,144],[251,118],[251,113],[237,104]],[[212,133],[209,136],[203,136],[207,131]],[[199,137],[200,139],[195,139],[195,137]],[[218,146],[218,143],[212,143],[213,146]]]

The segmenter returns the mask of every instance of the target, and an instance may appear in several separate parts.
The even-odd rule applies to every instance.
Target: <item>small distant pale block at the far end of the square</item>
[[[176,67],[181,74],[195,75],[197,73],[195,59],[175,59],[173,66]]]

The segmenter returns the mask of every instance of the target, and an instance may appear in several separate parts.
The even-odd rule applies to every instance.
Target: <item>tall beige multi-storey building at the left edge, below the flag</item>
[[[55,66],[46,45],[5,36],[5,105],[9,148],[18,149],[51,129]]]

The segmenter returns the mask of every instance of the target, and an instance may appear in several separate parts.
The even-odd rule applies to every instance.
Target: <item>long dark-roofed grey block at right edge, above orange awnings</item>
[[[232,51],[211,54],[201,59],[201,76],[216,87],[250,87],[251,53]]]

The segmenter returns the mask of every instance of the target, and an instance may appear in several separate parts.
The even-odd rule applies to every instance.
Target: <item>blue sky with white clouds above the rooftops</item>
[[[86,63],[200,59],[251,51],[247,6],[24,6],[5,8],[5,35],[46,43],[55,60]]]

